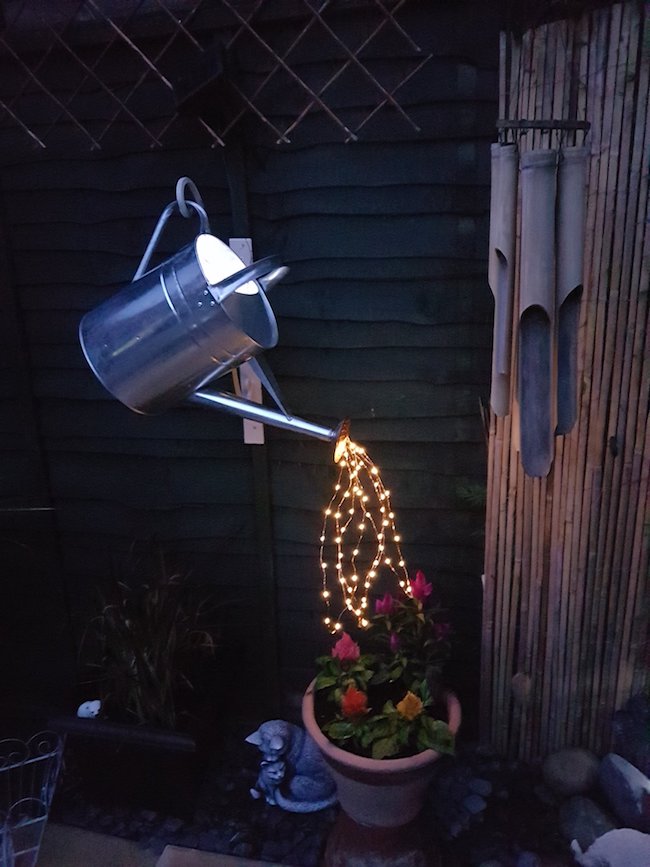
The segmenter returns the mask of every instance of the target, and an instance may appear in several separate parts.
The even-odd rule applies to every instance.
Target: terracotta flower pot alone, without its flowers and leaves
[[[460,702],[453,693],[447,693],[446,700],[447,722],[456,734],[461,722]],[[340,749],[316,722],[314,681],[303,697],[302,719],[336,782],[341,808],[353,821],[397,828],[416,818],[440,753],[424,750],[403,759],[368,759]]]

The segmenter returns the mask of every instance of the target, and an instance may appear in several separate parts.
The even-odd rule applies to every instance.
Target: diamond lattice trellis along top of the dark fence
[[[128,125],[160,147],[190,115],[224,145],[256,118],[279,144],[319,113],[353,141],[389,108],[417,130],[399,91],[429,56],[406,2],[7,0],[0,127],[38,148],[65,127],[98,149]]]

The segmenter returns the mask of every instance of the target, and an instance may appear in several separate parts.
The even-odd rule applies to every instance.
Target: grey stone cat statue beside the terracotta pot
[[[269,720],[246,738],[262,753],[253,798],[265,798],[291,813],[314,813],[336,803],[336,786],[307,732],[284,720]]]

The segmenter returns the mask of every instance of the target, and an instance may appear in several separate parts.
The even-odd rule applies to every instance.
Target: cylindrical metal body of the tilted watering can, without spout
[[[135,412],[163,412],[277,343],[277,324],[264,292],[220,297],[218,284],[206,282],[197,240],[81,321],[79,337],[90,367]],[[222,246],[232,265],[226,265],[230,274],[224,276],[244,269]]]

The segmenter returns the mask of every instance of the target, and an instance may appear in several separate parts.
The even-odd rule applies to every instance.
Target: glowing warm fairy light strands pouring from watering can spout
[[[368,597],[382,571],[392,572],[402,590],[409,590],[390,491],[378,467],[347,431],[336,443],[334,461],[338,476],[324,512],[319,551],[324,623],[332,633],[343,629],[346,617],[368,625]]]

